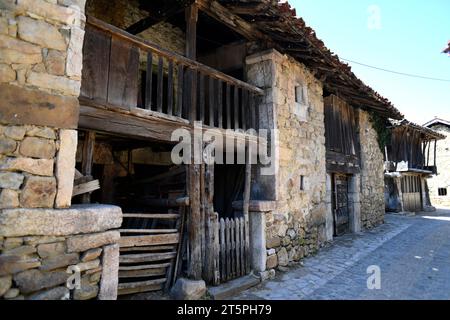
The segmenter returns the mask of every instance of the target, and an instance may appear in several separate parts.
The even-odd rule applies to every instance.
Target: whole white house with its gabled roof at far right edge
[[[437,147],[432,151],[436,157],[438,172],[428,180],[431,203],[436,207],[450,207],[450,122],[435,118],[425,127],[442,134],[445,139],[438,141]]]

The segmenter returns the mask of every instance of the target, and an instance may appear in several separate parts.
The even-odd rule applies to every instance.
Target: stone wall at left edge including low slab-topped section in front
[[[117,295],[120,208],[70,207],[84,3],[0,1],[0,298]]]

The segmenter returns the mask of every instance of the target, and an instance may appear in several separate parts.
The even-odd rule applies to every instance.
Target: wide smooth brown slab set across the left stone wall
[[[0,122],[77,129],[79,102],[76,97],[0,84]],[[61,116],[64,115],[64,116]]]

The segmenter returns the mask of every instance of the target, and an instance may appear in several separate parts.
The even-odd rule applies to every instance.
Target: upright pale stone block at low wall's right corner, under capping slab
[[[103,248],[102,276],[100,280],[99,300],[116,300],[119,284],[119,245]]]

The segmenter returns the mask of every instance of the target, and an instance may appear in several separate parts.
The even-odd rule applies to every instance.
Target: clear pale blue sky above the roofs
[[[290,0],[289,3],[297,9],[297,16],[315,29],[317,36],[341,58],[450,79],[450,57],[441,53],[450,40],[449,0]],[[374,27],[369,28],[369,24]],[[450,120],[450,82],[408,78],[350,65],[361,80],[391,100],[407,119],[419,124],[434,116]]]

